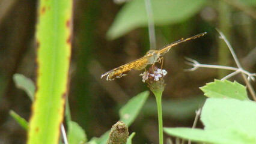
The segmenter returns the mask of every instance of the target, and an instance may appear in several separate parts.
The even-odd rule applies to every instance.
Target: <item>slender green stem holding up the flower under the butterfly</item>
[[[158,113],[158,128],[159,128],[159,144],[163,144],[163,116],[162,116],[162,93],[163,91],[154,92],[157,104]]]

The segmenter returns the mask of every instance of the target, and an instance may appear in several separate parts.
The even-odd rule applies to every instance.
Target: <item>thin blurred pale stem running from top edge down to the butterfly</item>
[[[154,32],[154,18],[153,18],[153,11],[151,7],[151,1],[145,0],[145,5],[147,9],[148,15],[148,35],[150,39],[150,49],[156,49],[156,34]]]

